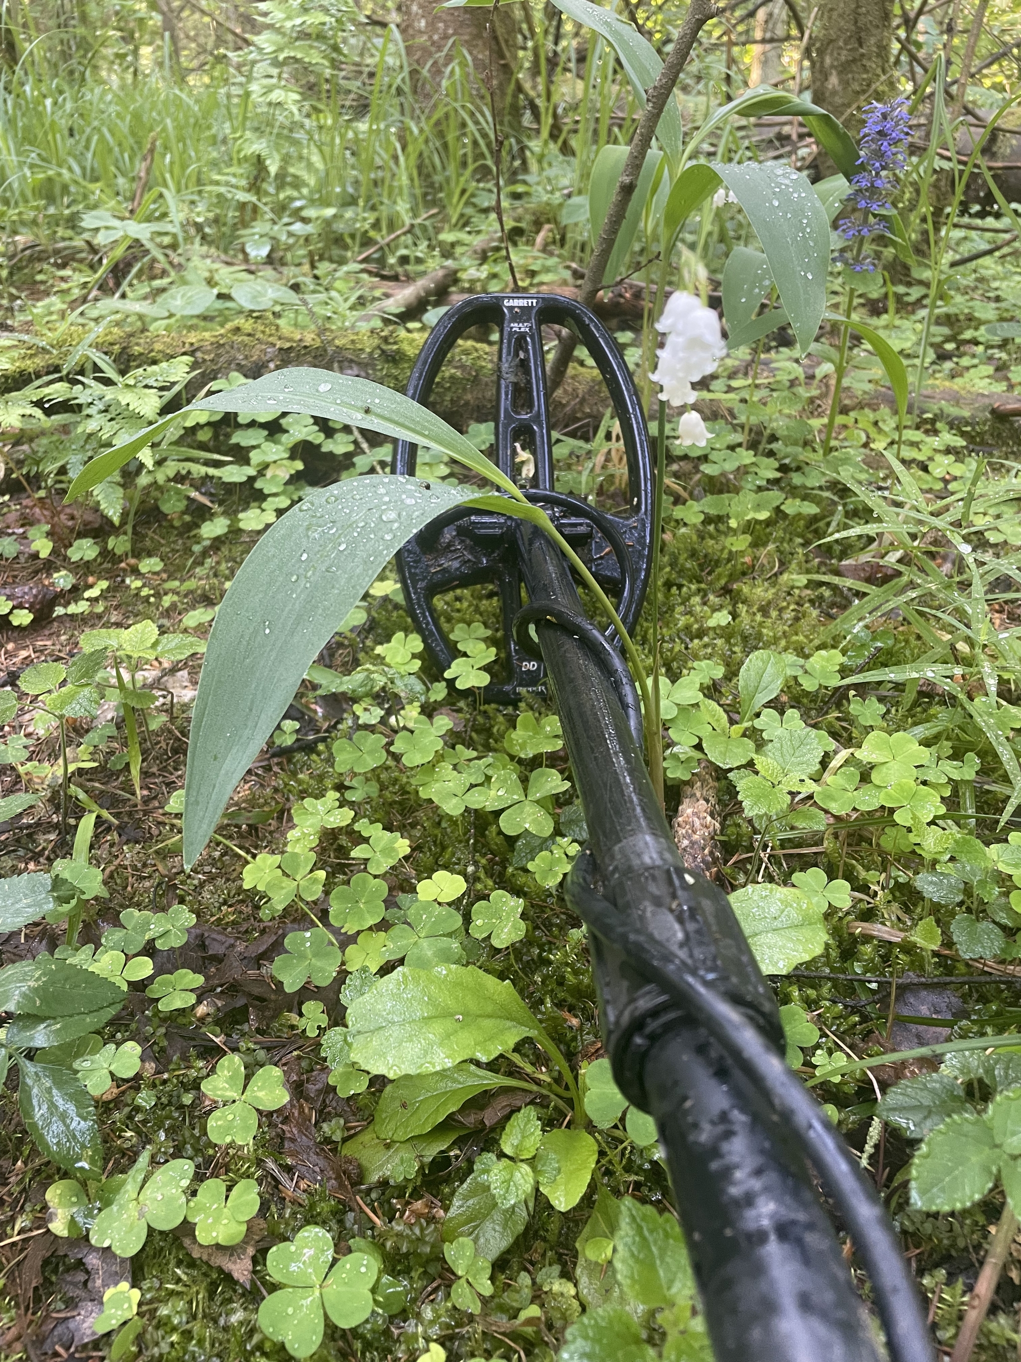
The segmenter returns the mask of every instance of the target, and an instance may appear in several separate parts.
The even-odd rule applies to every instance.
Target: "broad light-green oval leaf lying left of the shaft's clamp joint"
[[[351,1004],[347,1027],[354,1064],[389,1079],[487,1061],[540,1031],[509,981],[461,966],[395,970]]]

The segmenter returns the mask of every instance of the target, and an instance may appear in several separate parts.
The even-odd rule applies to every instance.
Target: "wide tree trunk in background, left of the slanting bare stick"
[[[490,19],[494,29],[490,34]],[[520,124],[515,65],[517,61],[517,23],[513,7],[489,8],[466,5],[460,10],[437,10],[436,0],[403,0],[400,35],[414,71],[415,99],[423,110],[442,98],[444,71],[455,57],[455,46],[470,59],[475,97],[489,110],[489,82],[501,131],[516,131]],[[491,75],[490,75],[491,74]]]

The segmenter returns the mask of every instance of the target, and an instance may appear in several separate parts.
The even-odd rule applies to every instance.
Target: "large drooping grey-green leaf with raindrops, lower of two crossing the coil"
[[[199,681],[185,780],[189,866],[338,620],[412,534],[467,498],[467,489],[415,478],[350,478],[310,493],[249,553],[216,613]]]

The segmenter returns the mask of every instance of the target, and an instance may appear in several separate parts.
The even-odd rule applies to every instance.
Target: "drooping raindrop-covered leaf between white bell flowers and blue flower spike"
[[[776,162],[713,162],[756,229],[805,354],[826,311],[829,221],[809,180]]]

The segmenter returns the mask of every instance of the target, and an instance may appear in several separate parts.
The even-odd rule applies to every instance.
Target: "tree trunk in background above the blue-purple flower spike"
[[[811,98],[837,117],[852,138],[862,109],[896,98],[893,0],[822,0],[811,30]],[[833,174],[820,154],[822,174]]]

